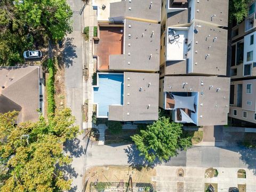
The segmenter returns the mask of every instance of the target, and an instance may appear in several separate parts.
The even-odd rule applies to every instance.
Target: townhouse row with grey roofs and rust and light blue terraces
[[[161,1],[93,1],[98,9],[97,117],[145,122],[158,118]],[[103,8],[103,9],[102,9]]]

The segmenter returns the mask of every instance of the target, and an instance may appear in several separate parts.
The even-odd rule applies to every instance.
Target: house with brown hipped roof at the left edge
[[[38,120],[44,113],[44,81],[39,67],[0,67],[0,113],[16,110],[17,123]]]

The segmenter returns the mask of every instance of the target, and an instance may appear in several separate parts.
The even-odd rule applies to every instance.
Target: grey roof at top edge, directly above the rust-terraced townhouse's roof
[[[161,1],[159,0],[125,0],[110,3],[110,18],[136,18],[161,21]]]

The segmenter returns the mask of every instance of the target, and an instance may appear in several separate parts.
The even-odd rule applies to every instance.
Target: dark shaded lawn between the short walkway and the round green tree
[[[123,143],[130,144],[132,143],[131,136],[136,134],[137,130],[122,130],[121,133],[111,134],[109,130],[105,131],[105,145],[113,143]]]

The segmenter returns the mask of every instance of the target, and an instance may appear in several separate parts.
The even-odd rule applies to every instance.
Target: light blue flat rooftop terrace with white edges
[[[124,75],[98,75],[98,87],[93,87],[93,102],[98,104],[98,116],[108,117],[108,106],[123,105]]]

